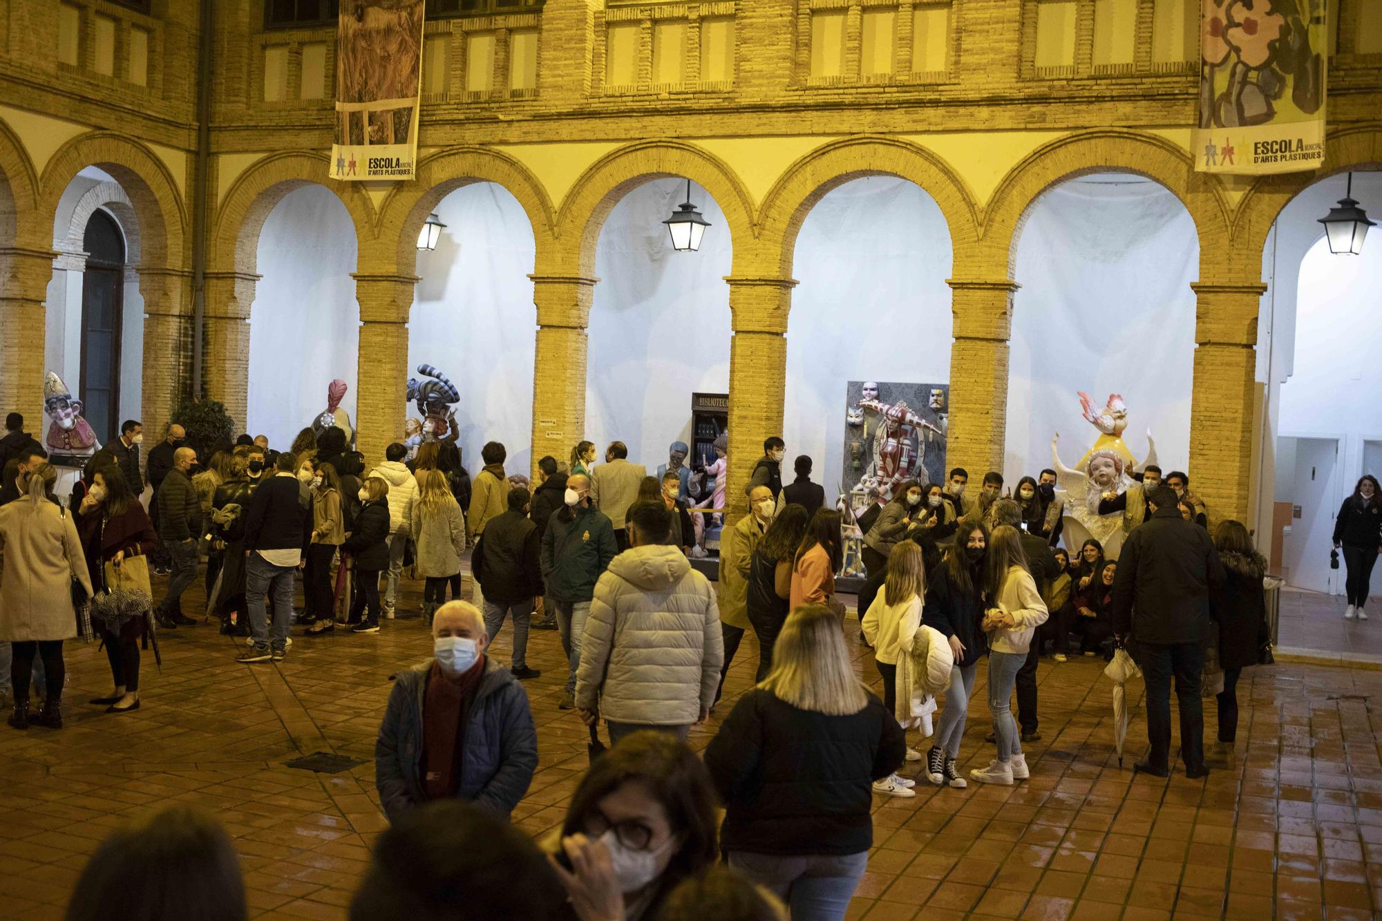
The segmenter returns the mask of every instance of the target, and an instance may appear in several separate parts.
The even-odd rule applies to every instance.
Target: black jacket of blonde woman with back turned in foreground
[[[705,750],[724,801],[720,845],[766,855],[851,855],[873,844],[875,780],[902,765],[902,727],[868,696],[853,716],[739,698]]]

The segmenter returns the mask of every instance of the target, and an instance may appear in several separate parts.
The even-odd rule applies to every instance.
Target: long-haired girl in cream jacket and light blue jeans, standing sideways
[[[985,784],[1012,784],[1030,776],[1010,709],[1013,685],[1035,642],[1036,628],[1049,614],[1027,568],[1017,528],[1010,524],[994,528],[985,556],[985,593],[992,607],[984,614],[983,628],[988,635],[988,709],[994,715],[998,758],[988,768],[970,770],[969,777]]]

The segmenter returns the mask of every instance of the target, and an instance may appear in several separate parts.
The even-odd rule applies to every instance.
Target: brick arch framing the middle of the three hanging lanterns
[[[557,236],[567,243],[562,257],[576,257],[572,274],[590,278],[596,242],[609,212],[625,195],[656,178],[690,178],[706,189],[730,224],[735,274],[757,236],[753,199],[728,163],[684,141],[643,141],[611,151],[593,163],[567,194],[557,213]],[[571,243],[579,241],[579,249]]]

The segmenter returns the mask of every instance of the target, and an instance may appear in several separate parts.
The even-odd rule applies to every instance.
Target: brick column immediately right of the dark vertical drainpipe
[[[202,311],[202,393],[224,405],[245,431],[250,405],[250,306],[260,278],[252,272],[206,272]]]

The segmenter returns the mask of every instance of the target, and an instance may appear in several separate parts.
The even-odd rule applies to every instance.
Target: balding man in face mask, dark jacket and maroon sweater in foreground
[[[398,672],[375,743],[375,785],[390,821],[455,797],[507,819],[538,768],[538,730],[518,679],[485,650],[468,602],[433,618],[433,658]]]

